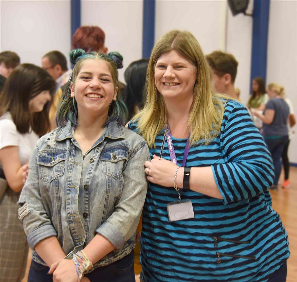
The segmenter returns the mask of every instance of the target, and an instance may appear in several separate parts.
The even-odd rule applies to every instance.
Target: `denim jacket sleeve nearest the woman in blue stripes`
[[[116,249],[124,246],[138,226],[148,186],[144,162],[150,159],[149,148],[146,142],[142,141],[134,149],[123,171],[124,186],[112,215],[96,230]]]

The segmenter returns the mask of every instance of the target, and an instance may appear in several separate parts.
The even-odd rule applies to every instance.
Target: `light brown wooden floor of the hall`
[[[282,182],[281,175],[279,181]],[[297,168],[290,168],[291,186],[287,189],[279,187],[278,190],[271,190],[272,208],[277,211],[289,236],[289,245],[291,255],[287,260],[287,282],[297,282]],[[26,276],[22,282],[27,281],[31,255],[28,256],[28,265]],[[136,276],[136,282],[139,281],[139,275]]]

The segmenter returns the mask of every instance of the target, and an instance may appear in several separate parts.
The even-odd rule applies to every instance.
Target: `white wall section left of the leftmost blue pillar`
[[[51,50],[68,58],[70,0],[1,0],[0,27],[0,52],[16,52],[21,63],[40,66],[42,56]]]

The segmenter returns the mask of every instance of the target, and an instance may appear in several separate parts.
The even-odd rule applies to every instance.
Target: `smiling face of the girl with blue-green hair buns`
[[[112,101],[116,101],[118,87],[114,87],[113,78],[104,60],[85,60],[71,84],[71,97],[75,97],[80,114],[108,115]]]

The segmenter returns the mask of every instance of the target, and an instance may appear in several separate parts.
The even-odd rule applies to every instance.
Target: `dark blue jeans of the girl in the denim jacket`
[[[53,282],[53,275],[49,275],[49,267],[31,261],[28,282]],[[126,257],[110,265],[95,268],[85,275],[91,282],[135,282],[134,254],[131,252]]]

